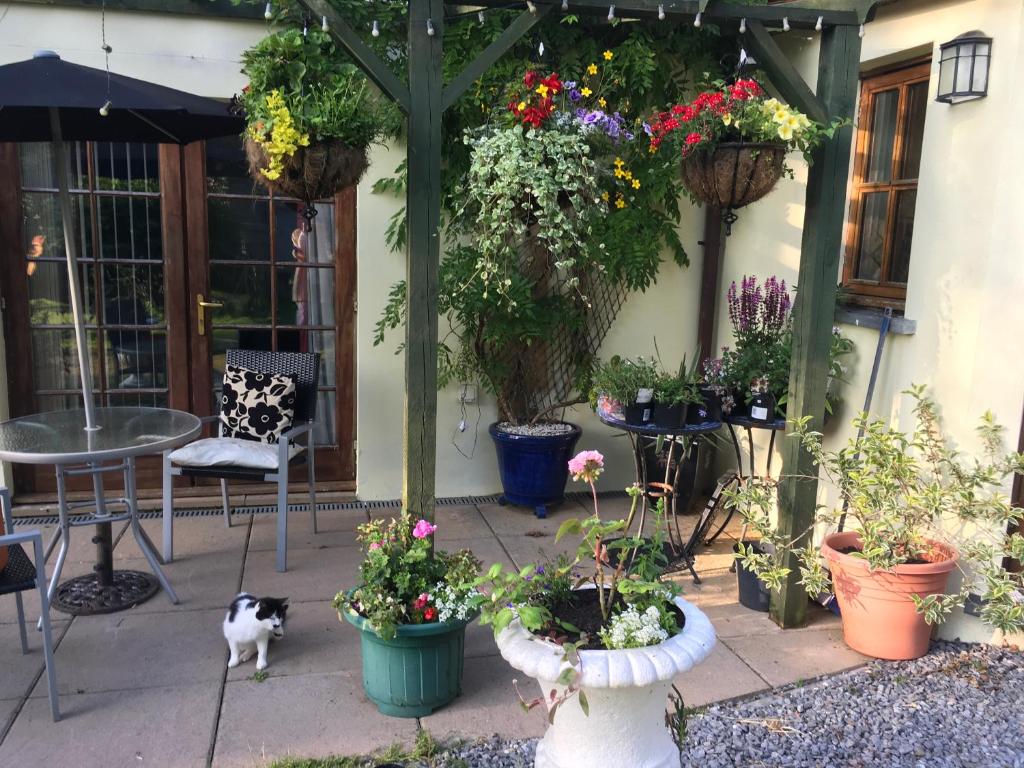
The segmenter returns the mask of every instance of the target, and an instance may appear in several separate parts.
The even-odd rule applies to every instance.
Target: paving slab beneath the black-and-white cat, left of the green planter
[[[223,614],[220,616],[223,621]],[[227,662],[227,643],[217,635]],[[329,600],[321,602],[290,603],[285,637],[270,643],[267,651],[270,677],[286,675],[330,674],[361,669],[359,633],[354,627],[342,624],[338,612]],[[256,672],[255,657],[227,670],[227,680],[248,680]]]

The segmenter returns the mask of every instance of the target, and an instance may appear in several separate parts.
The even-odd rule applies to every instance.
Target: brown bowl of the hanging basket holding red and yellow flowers
[[[683,159],[683,184],[707,205],[742,208],[775,188],[784,159],[779,143],[722,143]]]

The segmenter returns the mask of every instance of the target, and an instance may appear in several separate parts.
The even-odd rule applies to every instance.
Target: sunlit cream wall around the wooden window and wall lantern
[[[1008,427],[1008,446],[1014,446],[1024,403],[1024,357],[1016,353],[1015,342],[1024,327],[1024,219],[1016,187],[1024,156],[1007,140],[1007,128],[1024,118],[1024,94],[1017,87],[1024,63],[1024,3],[911,1],[886,6],[866,28],[861,56],[862,69],[870,70],[934,50],[934,97],[938,45],[976,29],[994,38],[989,95],[954,106],[928,103],[906,301],[906,317],[916,322],[916,333],[889,338],[872,404],[877,415],[909,428],[912,420],[901,392],[911,383],[927,384],[948,434],[967,452],[978,447],[974,428],[986,409]],[[777,39],[813,84],[817,41],[794,33]],[[783,181],[770,197],[739,212],[727,246],[726,285],[743,274],[776,273],[796,281],[805,180],[806,168],[798,167],[795,180]],[[852,436],[846,425],[863,403],[878,341],[874,331],[850,326],[843,331],[857,351],[844,387],[846,401],[825,429],[830,447]],[[728,343],[729,336],[722,306],[720,344]],[[763,458],[763,450],[761,454]],[[834,493],[822,488],[821,501],[834,499]],[[991,638],[980,622],[963,614],[944,625],[941,634]]]

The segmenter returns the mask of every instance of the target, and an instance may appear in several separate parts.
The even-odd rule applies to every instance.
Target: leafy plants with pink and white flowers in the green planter
[[[440,591],[451,591],[456,601],[475,608],[479,596],[471,584],[480,561],[469,550],[431,551],[424,523],[414,524],[408,512],[397,519],[371,520],[359,526],[358,540],[366,549],[359,565],[361,584],[339,592],[337,610],[353,610],[366,617],[384,640],[394,637],[399,625],[438,621]]]

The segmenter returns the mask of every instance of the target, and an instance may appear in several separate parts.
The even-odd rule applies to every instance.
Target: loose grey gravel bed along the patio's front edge
[[[535,748],[495,737],[433,765],[531,768]],[[1024,768],[1024,653],[937,642],[914,662],[715,705],[690,717],[682,765]]]

